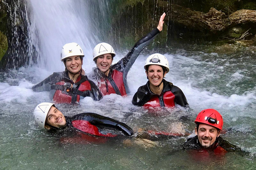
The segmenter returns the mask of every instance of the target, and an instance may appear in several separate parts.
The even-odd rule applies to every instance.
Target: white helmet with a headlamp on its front
[[[148,56],[148,58],[145,61],[144,69],[146,70],[146,65],[161,65],[166,68],[166,73],[169,72],[169,61],[167,58],[159,53],[152,54]]]

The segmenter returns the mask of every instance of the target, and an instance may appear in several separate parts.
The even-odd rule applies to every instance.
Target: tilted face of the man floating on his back
[[[52,106],[47,114],[46,124],[56,128],[64,128],[66,126],[66,119],[57,108]]]

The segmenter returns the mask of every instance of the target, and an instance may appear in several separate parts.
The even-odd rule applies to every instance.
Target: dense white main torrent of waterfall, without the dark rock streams
[[[38,49],[38,66],[51,71],[63,71],[60,51],[62,46],[69,42],[76,42],[82,47],[85,53],[84,63],[93,63],[92,49],[99,39],[98,30],[95,30],[97,19],[89,13],[91,10],[89,8],[92,8],[90,2],[27,1],[31,9],[30,41],[36,43],[34,45]],[[104,18],[104,15],[102,16]]]

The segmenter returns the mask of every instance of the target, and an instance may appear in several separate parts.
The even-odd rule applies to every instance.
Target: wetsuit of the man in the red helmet
[[[198,141],[198,136],[187,139],[182,147],[183,149],[196,149],[200,153],[208,153],[209,151],[213,151],[217,155],[225,155],[227,152],[245,153],[239,147],[222,139],[220,136],[217,137],[216,141],[208,148],[202,147]]]

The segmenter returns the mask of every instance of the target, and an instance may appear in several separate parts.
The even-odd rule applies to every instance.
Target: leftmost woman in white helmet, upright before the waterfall
[[[84,97],[93,100],[102,99],[98,87],[84,75],[82,69],[84,53],[75,42],[65,44],[61,49],[60,59],[65,71],[54,72],[42,82],[32,87],[33,91],[50,91],[55,103],[76,103]]]

